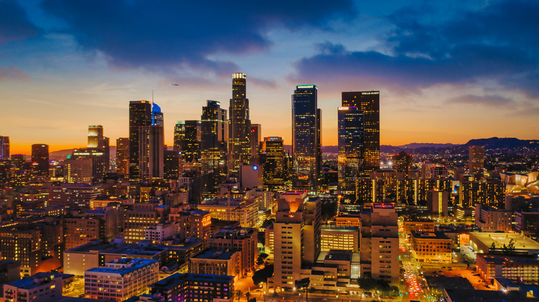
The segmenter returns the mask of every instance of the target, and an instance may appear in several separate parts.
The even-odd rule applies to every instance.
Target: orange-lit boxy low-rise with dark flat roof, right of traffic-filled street
[[[451,239],[441,232],[412,232],[412,255],[419,262],[451,263]]]

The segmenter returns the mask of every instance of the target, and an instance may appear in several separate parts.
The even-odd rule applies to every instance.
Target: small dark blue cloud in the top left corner
[[[0,43],[37,37],[39,29],[14,0],[0,1]]]

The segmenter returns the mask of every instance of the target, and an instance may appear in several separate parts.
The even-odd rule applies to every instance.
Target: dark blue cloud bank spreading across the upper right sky
[[[294,79],[374,78],[410,88],[492,80],[539,96],[538,1],[494,1],[451,18],[432,12],[421,6],[390,14],[395,29],[383,39],[386,54],[323,43],[319,54],[296,61]]]

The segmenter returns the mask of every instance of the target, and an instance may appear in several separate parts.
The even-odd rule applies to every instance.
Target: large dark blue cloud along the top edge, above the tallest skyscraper
[[[230,72],[234,63],[212,54],[267,49],[270,26],[328,28],[352,16],[338,1],[72,1],[46,0],[44,10],[64,20],[65,32],[124,68],[190,68]]]

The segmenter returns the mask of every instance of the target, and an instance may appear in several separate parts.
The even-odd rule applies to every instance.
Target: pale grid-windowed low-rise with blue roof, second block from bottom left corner
[[[158,281],[159,261],[115,259],[84,272],[84,296],[90,299],[124,301],[144,294]]]

